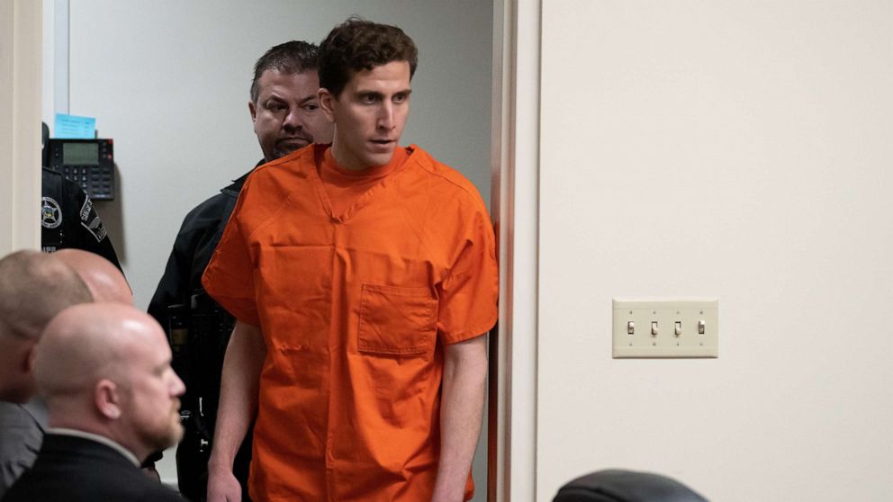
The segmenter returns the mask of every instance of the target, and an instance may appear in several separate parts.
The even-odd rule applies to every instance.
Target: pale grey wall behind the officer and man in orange
[[[97,207],[138,307],[185,213],[261,157],[248,115],[255,60],[285,40],[319,42],[352,13],[401,26],[419,47],[404,143],[489,199],[491,2],[70,0],[68,112],[95,116],[114,139],[118,197]]]

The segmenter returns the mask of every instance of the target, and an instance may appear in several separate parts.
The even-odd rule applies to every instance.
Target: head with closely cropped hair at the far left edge
[[[0,259],[0,399],[31,397],[31,354],[41,331],[63,309],[91,300],[77,273],[51,255],[18,251]]]

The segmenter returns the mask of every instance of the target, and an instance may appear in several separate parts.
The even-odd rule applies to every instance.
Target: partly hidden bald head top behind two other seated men
[[[104,257],[82,249],[61,249],[54,256],[80,275],[95,301],[133,304],[131,286],[118,267]]]

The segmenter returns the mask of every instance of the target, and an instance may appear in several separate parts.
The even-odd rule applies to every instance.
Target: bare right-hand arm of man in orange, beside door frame
[[[464,499],[465,482],[481,432],[486,378],[486,336],[445,346],[440,398],[440,462],[433,502]]]

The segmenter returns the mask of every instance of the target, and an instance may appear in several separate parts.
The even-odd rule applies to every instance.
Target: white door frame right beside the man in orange
[[[537,494],[541,12],[541,0],[493,2],[491,200],[501,293],[490,352],[490,502]]]

